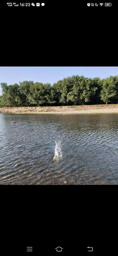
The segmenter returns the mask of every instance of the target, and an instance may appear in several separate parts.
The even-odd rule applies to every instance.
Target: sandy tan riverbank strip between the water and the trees
[[[0,108],[0,113],[13,114],[94,114],[118,113],[118,105]]]

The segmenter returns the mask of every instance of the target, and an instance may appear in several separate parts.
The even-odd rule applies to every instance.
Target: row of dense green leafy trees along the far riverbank
[[[53,85],[33,81],[0,85],[0,107],[118,103],[118,76],[100,79],[73,75]]]

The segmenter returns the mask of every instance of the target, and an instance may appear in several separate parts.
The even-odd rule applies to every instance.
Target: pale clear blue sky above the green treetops
[[[0,83],[18,83],[24,80],[53,84],[72,75],[106,78],[118,75],[118,67],[0,67]],[[0,88],[1,94],[1,88]]]

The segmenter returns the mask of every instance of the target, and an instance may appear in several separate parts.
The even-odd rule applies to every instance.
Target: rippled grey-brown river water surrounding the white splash
[[[0,184],[64,181],[118,184],[118,114],[0,114]]]

